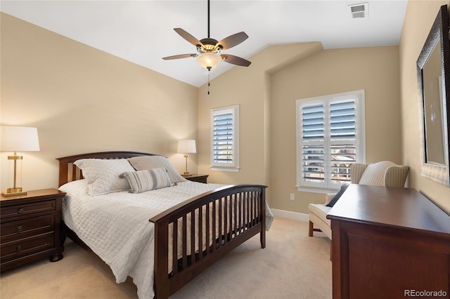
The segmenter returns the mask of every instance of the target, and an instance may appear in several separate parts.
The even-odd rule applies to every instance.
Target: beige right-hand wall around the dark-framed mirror
[[[450,188],[420,175],[420,108],[418,100],[416,61],[435,21],[440,6],[449,1],[409,1],[401,32],[400,86],[404,164],[411,167],[411,187],[450,213]]]

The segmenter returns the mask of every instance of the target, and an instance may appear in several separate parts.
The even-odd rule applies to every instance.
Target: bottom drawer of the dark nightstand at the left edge
[[[39,234],[37,236],[18,239],[1,244],[1,262],[19,258],[30,253],[44,251],[53,247],[54,233]]]

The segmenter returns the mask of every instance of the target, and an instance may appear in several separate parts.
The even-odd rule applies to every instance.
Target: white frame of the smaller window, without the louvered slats
[[[214,117],[221,114],[233,114],[233,161],[231,163],[221,163],[214,161]],[[239,105],[231,105],[226,107],[219,107],[211,109],[210,114],[210,124],[211,124],[211,142],[210,142],[210,168],[212,171],[239,171]]]

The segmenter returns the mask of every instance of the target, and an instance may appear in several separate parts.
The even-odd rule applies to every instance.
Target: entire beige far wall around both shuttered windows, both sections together
[[[295,187],[295,100],[359,89],[366,90],[367,161],[401,163],[398,47],[323,51],[319,45],[271,46],[250,58],[251,67],[234,67],[214,79],[211,95],[200,88],[200,172],[217,182],[265,183],[272,208],[308,213],[309,203],[325,197]],[[280,61],[293,51],[297,55],[291,54],[288,64]],[[210,109],[236,103],[241,105],[240,172],[210,171]]]

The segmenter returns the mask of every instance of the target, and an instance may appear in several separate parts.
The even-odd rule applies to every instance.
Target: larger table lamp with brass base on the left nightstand
[[[1,194],[5,197],[27,194],[20,187],[22,185],[23,156],[20,156],[17,152],[39,151],[37,128],[1,126],[0,140],[1,152],[14,152],[13,156],[8,156],[8,166],[13,173],[13,187],[8,188],[6,192],[2,192]],[[8,173],[8,175],[10,174]]]

